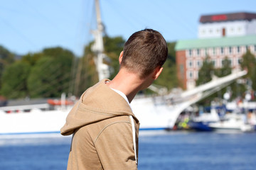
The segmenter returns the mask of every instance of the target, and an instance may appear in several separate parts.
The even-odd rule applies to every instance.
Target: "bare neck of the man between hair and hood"
[[[107,85],[112,89],[122,91],[127,96],[129,103],[143,89],[142,79],[139,79],[137,74],[129,73],[124,69],[120,69],[117,76]]]

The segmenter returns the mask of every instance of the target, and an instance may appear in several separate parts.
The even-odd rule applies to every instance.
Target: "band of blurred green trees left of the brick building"
[[[124,47],[122,37],[104,37],[105,54],[110,57],[113,68],[110,79],[119,72],[119,54]],[[168,89],[178,86],[176,79],[176,42],[168,42],[168,58],[164,70],[154,84]],[[48,98],[60,97],[65,92],[80,96],[83,91],[97,83],[98,77],[91,50],[92,42],[85,47],[84,55],[77,58],[69,50],[61,47],[46,48],[42,52],[28,53],[14,62],[14,55],[0,46],[1,63],[14,62],[6,70],[1,94],[8,98]],[[4,55],[3,55],[4,54]],[[7,64],[6,64],[7,65]],[[1,66],[0,66],[1,67]],[[17,70],[18,72],[13,72]],[[0,69],[1,76],[1,69]],[[11,78],[10,78],[11,77]],[[10,78],[10,79],[9,79]],[[1,84],[1,83],[0,83]],[[14,93],[14,91],[16,91]]]

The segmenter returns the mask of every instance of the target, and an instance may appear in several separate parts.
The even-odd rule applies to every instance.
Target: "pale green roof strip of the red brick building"
[[[195,40],[178,40],[178,42],[176,42],[175,50],[179,51],[193,48],[227,47],[238,45],[256,45],[256,35],[224,38],[205,38]]]

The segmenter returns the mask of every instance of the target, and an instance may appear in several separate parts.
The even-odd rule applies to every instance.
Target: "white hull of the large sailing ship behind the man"
[[[71,108],[53,111],[0,113],[0,135],[60,132]],[[140,130],[170,130],[179,113],[154,98],[139,98],[132,102],[134,115],[139,119]]]

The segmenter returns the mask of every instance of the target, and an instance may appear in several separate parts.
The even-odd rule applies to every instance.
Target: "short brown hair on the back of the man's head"
[[[125,42],[120,66],[144,78],[156,67],[162,67],[167,55],[166,40],[161,33],[152,29],[140,30]]]

